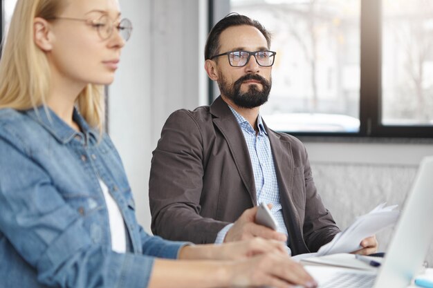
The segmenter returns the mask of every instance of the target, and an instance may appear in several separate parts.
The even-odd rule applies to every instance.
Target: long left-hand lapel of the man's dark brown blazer
[[[214,125],[219,128],[228,144],[241,180],[250,194],[252,205],[256,206],[257,193],[255,190],[254,173],[252,172],[248,146],[246,145],[241,128],[232,111],[228,108],[228,104],[223,101],[221,96],[216,98],[210,106],[210,113],[214,115]]]

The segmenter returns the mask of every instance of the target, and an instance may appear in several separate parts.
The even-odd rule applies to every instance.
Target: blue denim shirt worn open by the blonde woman
[[[147,287],[154,258],[184,245],[136,220],[120,157],[75,110],[73,130],[48,108],[0,109],[0,287]],[[111,251],[99,179],[117,202],[127,253]]]

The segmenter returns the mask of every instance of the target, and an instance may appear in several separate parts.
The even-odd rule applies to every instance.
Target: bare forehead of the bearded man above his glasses
[[[264,50],[268,49],[268,42],[264,35],[254,26],[231,26],[219,37],[220,52],[230,50]]]

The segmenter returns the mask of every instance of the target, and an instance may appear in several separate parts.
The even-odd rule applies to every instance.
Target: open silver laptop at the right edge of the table
[[[432,219],[433,156],[428,156],[421,161],[385,259],[377,273],[331,267],[307,266],[306,269],[319,282],[319,288],[408,287],[412,278],[421,271],[432,243]]]

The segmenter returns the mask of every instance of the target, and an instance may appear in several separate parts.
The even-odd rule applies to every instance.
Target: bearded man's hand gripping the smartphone
[[[243,211],[241,217],[234,222],[232,228],[227,232],[224,242],[233,242],[239,240],[248,240],[254,237],[273,239],[278,241],[287,241],[287,236],[255,223],[257,207]]]

